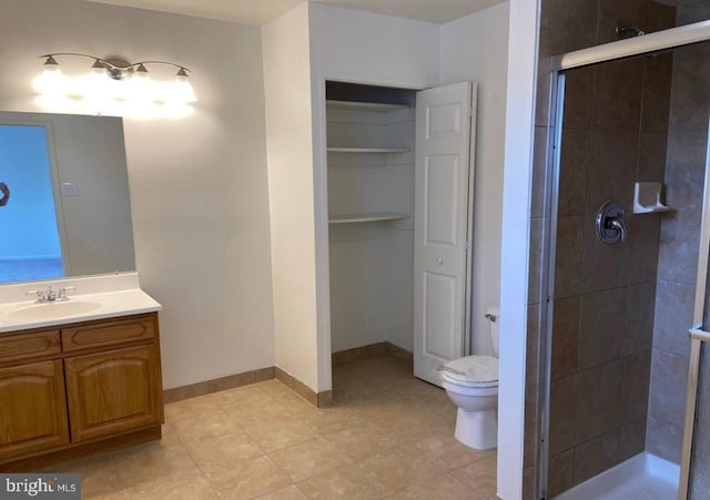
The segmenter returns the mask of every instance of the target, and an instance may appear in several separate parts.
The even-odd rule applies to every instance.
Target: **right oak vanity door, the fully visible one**
[[[160,371],[154,345],[64,360],[73,442],[160,422]]]

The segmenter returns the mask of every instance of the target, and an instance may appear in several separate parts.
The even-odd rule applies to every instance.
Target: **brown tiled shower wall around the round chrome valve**
[[[549,494],[645,449],[660,216],[630,208],[635,182],[663,182],[671,69],[667,53],[567,72]],[[596,236],[607,201],[628,211],[626,243]]]

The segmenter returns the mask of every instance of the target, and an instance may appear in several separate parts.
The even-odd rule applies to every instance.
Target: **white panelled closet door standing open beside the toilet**
[[[464,356],[469,323],[471,89],[417,93],[414,375],[437,386],[439,365]]]

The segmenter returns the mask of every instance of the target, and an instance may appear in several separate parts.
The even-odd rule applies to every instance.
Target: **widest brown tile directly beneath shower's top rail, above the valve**
[[[592,129],[638,133],[643,92],[643,80],[640,78],[643,74],[643,58],[605,62],[595,69]]]

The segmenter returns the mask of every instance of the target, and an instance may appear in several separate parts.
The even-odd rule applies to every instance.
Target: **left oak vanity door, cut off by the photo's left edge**
[[[69,442],[62,361],[0,369],[0,462]]]

